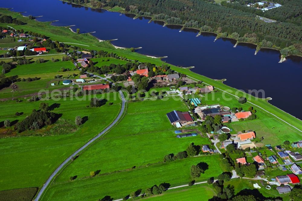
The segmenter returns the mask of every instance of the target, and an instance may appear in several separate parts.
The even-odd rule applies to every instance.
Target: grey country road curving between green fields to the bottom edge
[[[92,138],[91,140],[89,140],[89,142],[87,142],[85,145],[83,145],[81,148],[79,148],[76,152],[74,152],[71,156],[69,156],[62,164],[60,164],[58,168],[56,168],[56,170],[53,172],[53,174],[51,174],[50,177],[47,179],[47,181],[44,183],[44,185],[41,188],[41,190],[39,191],[39,193],[38,193],[35,201],[38,201],[40,199],[41,195],[44,193],[44,191],[46,190],[46,188],[48,187],[48,185],[51,183],[51,180],[53,180],[53,178],[56,176],[56,174],[64,167],[64,165],[66,165],[71,160],[72,157],[76,156],[79,152],[81,152],[83,149],[85,149],[88,145],[90,145],[96,139],[98,139],[99,137],[101,137],[105,132],[107,132],[109,129],[111,129],[112,126],[114,126],[114,124],[117,123],[117,121],[120,119],[120,117],[124,113],[125,103],[126,103],[126,100],[125,100],[123,92],[120,91],[119,93],[120,93],[120,96],[122,98],[122,108],[121,108],[120,113],[118,114],[117,118],[107,128],[105,128],[97,136],[95,136],[94,138]]]

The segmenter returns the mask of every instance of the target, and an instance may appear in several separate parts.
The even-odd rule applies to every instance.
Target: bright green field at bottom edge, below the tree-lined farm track
[[[208,200],[215,195],[208,184],[198,184],[190,188],[168,190],[160,195],[146,197],[140,200],[147,201],[170,201],[170,200]]]

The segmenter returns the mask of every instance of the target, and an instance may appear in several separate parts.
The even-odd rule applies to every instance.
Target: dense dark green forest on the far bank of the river
[[[84,4],[87,2],[96,7],[120,6],[125,8],[126,12],[149,15],[155,19],[165,20],[169,24],[197,27],[202,31],[222,33],[223,36],[239,34],[237,38],[241,38],[240,41],[250,43],[266,40],[277,47],[285,48],[302,41],[299,25],[302,0],[281,0],[280,3],[284,6],[265,13],[241,5],[254,2],[253,0],[239,0],[240,3],[223,2],[222,5],[204,0],[69,0],[69,2]],[[281,12],[278,12],[280,9]],[[266,23],[256,19],[256,11],[278,21]],[[292,23],[293,21],[295,23]]]

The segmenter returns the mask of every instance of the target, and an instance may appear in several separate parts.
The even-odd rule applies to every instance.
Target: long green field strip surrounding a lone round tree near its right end
[[[222,167],[217,164],[218,160],[219,155],[186,158],[126,172],[55,184],[47,190],[42,200],[96,200],[102,199],[104,196],[119,199],[133,191],[145,190],[155,184],[165,182],[169,183],[171,187],[186,184],[191,180],[191,165],[200,162],[208,165],[204,174],[196,179],[196,181],[203,181],[209,177],[217,177],[223,172]]]

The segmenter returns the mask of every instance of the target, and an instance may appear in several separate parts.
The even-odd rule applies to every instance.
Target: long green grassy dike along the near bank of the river
[[[22,17],[21,14],[16,12],[9,11],[5,8],[0,8],[0,14],[11,15],[13,18],[18,18],[24,22],[26,25],[14,25],[14,24],[5,24],[0,23],[0,26],[6,27],[11,26],[14,29],[23,29],[24,31],[33,31],[40,34],[45,34],[47,37],[50,37],[52,40],[58,40],[63,43],[77,43],[76,46],[85,48],[85,49],[94,49],[94,50],[104,50],[108,52],[116,53],[119,56],[127,57],[127,59],[139,60],[140,62],[150,62],[156,65],[167,64],[171,69],[186,74],[195,80],[203,81],[206,84],[213,85],[215,88],[221,91],[227,91],[230,95],[234,97],[246,96],[248,99],[248,104],[255,107],[255,109],[262,110],[264,112],[272,113],[270,114],[273,118],[278,120],[283,124],[290,124],[292,129],[295,129],[299,132],[302,130],[302,121],[290,115],[289,113],[280,110],[279,108],[269,104],[267,99],[259,99],[253,96],[250,96],[244,92],[238,92],[237,89],[227,86],[219,81],[215,81],[211,78],[199,75],[197,73],[191,72],[189,69],[179,68],[177,66],[163,62],[161,59],[155,59],[151,57],[144,56],[139,53],[131,52],[130,49],[115,49],[109,41],[99,42],[96,37],[90,34],[75,34],[69,30],[67,27],[56,27],[50,25],[50,22],[38,22],[35,20],[29,20],[26,17]],[[73,44],[70,44],[73,45]],[[280,119],[278,119],[280,118]],[[284,122],[284,121],[286,122]],[[294,128],[294,127],[295,128]]]

